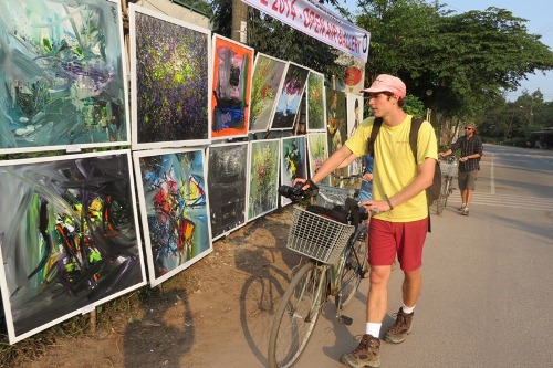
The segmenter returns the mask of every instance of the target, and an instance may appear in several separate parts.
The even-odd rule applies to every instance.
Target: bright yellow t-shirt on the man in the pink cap
[[[383,123],[374,144],[373,199],[383,200],[385,196],[393,197],[415,180],[418,168],[415,165],[413,150],[409,145],[410,122],[413,116],[407,115],[405,120],[394,127]],[[368,154],[368,140],[373,130],[374,117],[366,118],[345,143],[356,156]],[[438,159],[438,143],[430,123],[420,125],[417,140],[417,164],[427,157]],[[377,219],[390,222],[411,222],[428,217],[426,191],[409,201],[375,215]]]

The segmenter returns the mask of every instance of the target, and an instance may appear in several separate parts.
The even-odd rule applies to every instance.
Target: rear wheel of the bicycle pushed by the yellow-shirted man
[[[368,249],[366,234],[364,239],[357,239],[352,246],[346,246],[344,252],[342,282],[336,296],[340,298],[340,301],[336,301],[336,307],[340,308],[343,308],[353,299],[355,292],[359,287],[361,280],[367,272]]]

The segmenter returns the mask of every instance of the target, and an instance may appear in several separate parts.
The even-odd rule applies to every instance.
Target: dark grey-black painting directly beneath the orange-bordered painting
[[[208,192],[213,240],[246,223],[248,141],[211,145],[208,155]]]

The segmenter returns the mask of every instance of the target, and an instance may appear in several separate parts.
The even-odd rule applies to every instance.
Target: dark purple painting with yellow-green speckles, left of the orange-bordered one
[[[210,143],[210,31],[129,3],[133,149]]]

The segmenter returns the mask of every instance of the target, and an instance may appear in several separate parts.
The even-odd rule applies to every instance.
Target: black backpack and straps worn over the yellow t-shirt
[[[421,117],[414,117],[411,119],[411,129],[409,132],[409,145],[411,146],[413,157],[415,158],[415,165],[417,165],[417,138],[418,129],[425,119]],[[380,126],[383,124],[383,118],[377,117],[373,124],[373,130],[371,132],[371,139],[368,140],[368,153],[374,157],[375,153],[375,139]],[[434,179],[430,187],[426,188],[426,200],[428,207],[430,207],[435,200],[440,197],[441,191],[441,169],[438,161],[436,161],[436,168],[434,169]],[[428,217],[428,231],[430,232],[430,217]]]

